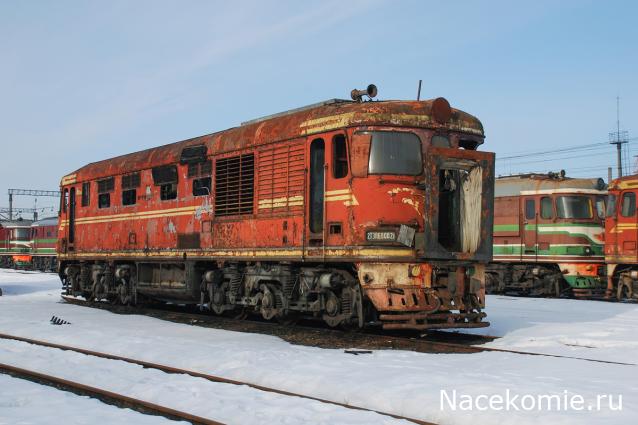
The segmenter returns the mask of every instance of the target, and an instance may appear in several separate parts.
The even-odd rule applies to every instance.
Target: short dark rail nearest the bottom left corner
[[[23,369],[13,365],[0,363],[0,373],[11,375],[17,378],[27,379],[30,381],[35,381],[37,383],[42,383],[79,395],[89,395],[107,404],[123,405],[144,414],[151,413],[172,420],[185,420],[198,425],[223,425],[223,422],[217,422],[212,419],[192,415],[190,413],[171,409],[169,407],[160,406],[158,404],[129,397],[124,394],[119,394],[102,388],[81,384],[79,382],[59,378],[57,376],[36,372],[34,370]]]

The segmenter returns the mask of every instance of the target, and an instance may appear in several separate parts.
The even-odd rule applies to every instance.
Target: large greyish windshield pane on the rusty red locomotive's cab
[[[373,131],[368,173],[417,176],[423,171],[421,139],[414,133]]]

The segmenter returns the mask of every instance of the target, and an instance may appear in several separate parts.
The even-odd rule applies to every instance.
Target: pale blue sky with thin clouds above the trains
[[[369,83],[414,99],[419,79],[477,116],[497,157],[607,142],[620,96],[633,168],[637,16],[633,1],[3,1],[0,206],[8,188],[55,190],[88,162]],[[608,166],[601,145],[497,173]]]

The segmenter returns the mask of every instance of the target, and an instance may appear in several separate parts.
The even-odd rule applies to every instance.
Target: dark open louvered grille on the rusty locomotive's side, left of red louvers
[[[252,214],[255,196],[255,156],[215,161],[215,215]]]

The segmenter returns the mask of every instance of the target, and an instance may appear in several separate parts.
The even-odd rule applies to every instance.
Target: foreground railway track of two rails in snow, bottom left
[[[336,401],[332,401],[332,400],[326,400],[326,399],[322,399],[322,398],[318,398],[318,397],[312,397],[312,396],[308,396],[308,395],[304,395],[304,394],[298,394],[298,393],[293,393],[290,391],[283,391],[283,390],[279,390],[276,388],[270,388],[270,387],[266,387],[263,385],[256,385],[256,384],[252,384],[250,382],[243,382],[243,381],[238,381],[238,380],[233,380],[233,379],[227,379],[227,378],[223,378],[220,376],[215,376],[215,375],[211,375],[211,374],[206,374],[206,373],[201,373],[201,372],[196,372],[196,371],[192,371],[192,370],[188,370],[188,369],[181,369],[181,368],[176,368],[173,366],[168,366],[168,365],[162,365],[162,364],[158,364],[158,363],[152,363],[152,362],[147,362],[144,360],[139,360],[139,359],[134,359],[134,358],[130,358],[130,357],[125,357],[125,356],[120,356],[120,355],[115,355],[115,354],[109,354],[109,353],[103,353],[103,352],[99,352],[99,351],[93,351],[93,350],[87,350],[87,349],[83,349],[80,347],[74,347],[74,346],[69,346],[69,345],[63,345],[63,344],[57,344],[57,343],[52,343],[49,341],[42,341],[42,340],[36,340],[36,339],[32,339],[32,338],[25,338],[25,337],[21,337],[21,336],[17,336],[17,335],[9,335],[9,334],[4,334],[4,333],[0,333],[0,339],[4,339],[4,340],[13,340],[13,341],[19,341],[19,342],[23,342],[23,343],[27,343],[27,344],[31,344],[34,346],[40,346],[40,347],[46,347],[46,348],[50,348],[50,349],[57,349],[57,350],[64,350],[64,351],[71,351],[71,352],[75,352],[75,353],[79,353],[79,354],[84,354],[87,356],[93,356],[93,357],[98,357],[101,359],[107,359],[107,360],[116,360],[116,361],[122,361],[122,362],[126,362],[126,363],[130,363],[130,364],[134,364],[137,366],[142,366],[144,369],[154,369],[154,370],[158,370],[164,373],[169,373],[169,374],[182,374],[182,375],[188,375],[188,376],[192,376],[195,378],[203,378],[207,381],[211,381],[211,382],[215,382],[215,383],[221,383],[221,384],[228,384],[228,385],[243,385],[243,386],[247,386],[250,388],[253,388],[255,390],[258,391],[263,391],[263,392],[269,392],[269,393],[275,393],[275,394],[279,394],[279,395],[283,395],[283,396],[287,396],[287,397],[299,397],[299,398],[303,398],[303,399],[307,399],[307,400],[313,400],[313,401],[317,401],[320,403],[325,403],[325,404],[331,404],[331,405],[335,405],[335,406],[339,406],[339,407],[344,407],[347,409],[352,409],[352,410],[359,410],[359,411],[365,411],[365,412],[372,412],[372,413],[377,413],[379,415],[382,416],[388,416],[388,417],[392,417],[394,419],[403,419],[415,424],[420,424],[420,425],[433,425],[431,422],[426,422],[426,421],[422,421],[419,419],[414,419],[414,418],[409,418],[409,417],[405,417],[405,416],[400,416],[400,415],[395,415],[392,413],[387,413],[387,412],[382,412],[382,411],[378,411],[378,410],[374,410],[374,409],[368,409],[368,408],[364,408],[364,407],[359,407],[359,406],[354,406],[354,405],[349,405],[349,404],[345,404],[345,403],[340,403],[340,402],[336,402]],[[126,396],[124,394],[119,394],[119,393],[115,393],[112,391],[108,391],[105,389],[101,389],[98,387],[93,387],[93,386],[88,386],[86,384],[82,384],[79,382],[75,382],[75,381],[71,381],[68,379],[63,379],[63,378],[59,378],[53,375],[49,375],[49,374],[44,374],[41,372],[37,372],[37,371],[33,371],[33,370],[29,370],[29,369],[24,369],[24,368],[20,368],[17,366],[13,366],[13,365],[8,365],[8,364],[3,364],[0,363],[0,373],[6,373],[18,378],[22,378],[22,379],[28,379],[34,382],[38,382],[38,383],[42,383],[45,385],[49,385],[49,386],[53,386],[62,390],[66,390],[66,391],[71,391],[73,393],[76,394],[80,394],[80,395],[88,395],[97,399],[100,399],[103,402],[106,402],[108,404],[114,404],[114,405],[118,405],[118,406],[122,406],[122,407],[129,407],[132,408],[136,411],[139,411],[141,413],[145,413],[145,414],[154,414],[154,415],[161,415],[164,416],[166,418],[169,419],[175,419],[175,420],[185,420],[194,424],[206,424],[206,425],[212,425],[212,424],[220,424],[221,422],[217,422],[211,419],[207,419],[207,418],[203,418],[200,416],[196,416],[196,415],[192,415],[190,413],[187,412],[182,412],[179,410],[175,410],[175,409],[171,409],[171,408],[167,408],[164,406],[160,406],[154,403],[150,403],[148,401],[144,401],[144,400],[140,400],[137,398],[133,398],[130,396]]]

